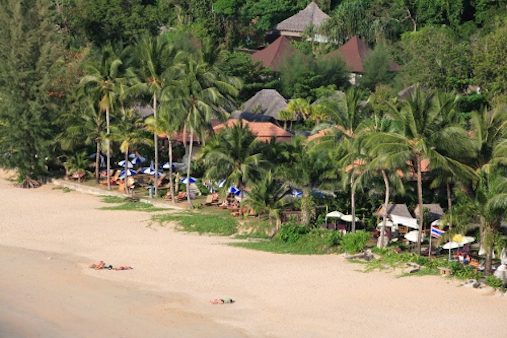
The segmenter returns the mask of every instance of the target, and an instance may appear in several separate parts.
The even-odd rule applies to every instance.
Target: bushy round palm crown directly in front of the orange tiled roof
[[[235,184],[243,193],[248,182],[259,178],[264,165],[261,147],[247,125],[240,120],[221,130],[202,152],[206,176]]]

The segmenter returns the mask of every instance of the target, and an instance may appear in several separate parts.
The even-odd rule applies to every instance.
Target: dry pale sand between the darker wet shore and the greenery
[[[234,248],[224,245],[226,238],[147,227],[147,213],[101,206],[97,197],[50,185],[22,190],[0,180],[0,245],[82,257],[87,275],[135,283],[138,292],[163,295],[175,315],[200,316],[205,325],[224,325],[224,332],[234,327],[252,337],[507,336],[506,296],[484,296],[439,277],[362,273],[335,255]],[[135,269],[85,268],[100,259]],[[237,303],[209,305],[215,297]],[[142,293],[139,302],[149,306]]]

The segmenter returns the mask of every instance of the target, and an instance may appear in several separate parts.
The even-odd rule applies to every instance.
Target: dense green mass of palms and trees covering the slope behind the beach
[[[248,188],[245,203],[277,229],[288,205],[317,223],[322,190],[370,226],[381,203],[442,202],[454,232],[480,224],[491,268],[507,210],[507,1],[317,2],[330,42],[296,41],[299,54],[272,71],[243,50],[306,0],[0,0],[0,167],[41,180],[87,171],[93,152],[98,180],[101,152],[109,168],[140,150],[172,177],[178,158],[188,177]],[[349,88],[325,54],[354,35],[373,52]],[[262,88],[291,99],[286,129],[327,136],[266,144],[236,125],[210,138],[213,120]],[[195,139],[208,142],[194,161]],[[287,198],[294,188],[301,199]]]

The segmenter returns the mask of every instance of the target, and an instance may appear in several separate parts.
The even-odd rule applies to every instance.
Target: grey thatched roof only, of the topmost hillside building
[[[305,9],[276,25],[275,29],[279,32],[303,33],[311,25],[320,27],[328,18],[329,16],[312,1]]]

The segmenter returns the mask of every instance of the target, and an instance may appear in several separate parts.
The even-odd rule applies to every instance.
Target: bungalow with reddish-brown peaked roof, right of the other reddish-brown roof
[[[324,58],[341,58],[350,71],[350,83],[355,85],[362,74],[364,74],[364,61],[370,52],[371,49],[364,40],[353,36],[343,46],[326,54]],[[391,63],[389,70],[397,72],[400,70],[400,66],[396,63]]]

